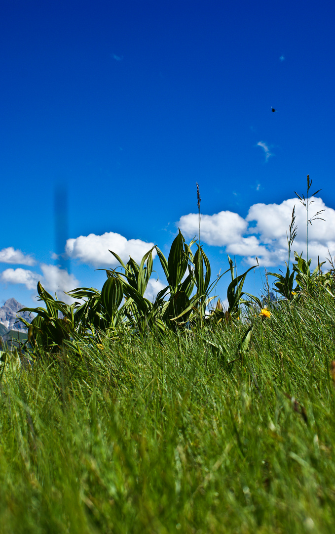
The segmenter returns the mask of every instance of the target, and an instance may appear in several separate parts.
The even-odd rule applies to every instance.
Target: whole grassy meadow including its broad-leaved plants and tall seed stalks
[[[310,269],[311,185],[307,258],[292,262],[293,209],[276,300],[244,293],[253,268],[228,256],[227,309],[211,302],[199,189],[195,254],[180,231],[168,258],[153,247],[154,302],[153,249],[112,252],[120,268],[71,305],[38,283],[27,341],[0,358],[0,532],[335,529],[335,271]]]

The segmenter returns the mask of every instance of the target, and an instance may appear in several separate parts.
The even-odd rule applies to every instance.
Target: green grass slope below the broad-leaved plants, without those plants
[[[12,355],[0,532],[329,534],[334,328],[322,292],[255,318],[242,355],[243,323]]]

